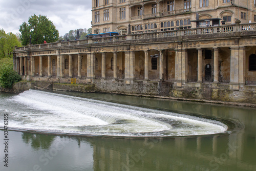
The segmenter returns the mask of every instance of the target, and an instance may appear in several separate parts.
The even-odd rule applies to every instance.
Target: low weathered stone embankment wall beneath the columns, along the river
[[[9,93],[19,93],[29,89],[53,89],[82,93],[115,93],[135,96],[150,96],[177,100],[226,103],[256,106],[256,87],[240,86],[233,90],[230,84],[186,83],[178,88],[173,82],[131,81],[95,79],[92,84],[69,84],[52,82],[18,82],[13,90],[0,89]]]

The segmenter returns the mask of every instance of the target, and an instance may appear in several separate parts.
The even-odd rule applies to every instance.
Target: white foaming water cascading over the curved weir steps
[[[163,137],[227,130],[215,120],[36,90],[3,101],[0,112],[8,113],[12,129],[52,133]]]

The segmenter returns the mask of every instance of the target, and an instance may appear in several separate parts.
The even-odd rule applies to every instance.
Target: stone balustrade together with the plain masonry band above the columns
[[[94,46],[107,45],[136,45],[136,44],[154,44],[156,42],[186,42],[187,44],[196,44],[200,47],[199,40],[222,40],[225,38],[256,37],[256,23],[223,25],[215,27],[203,27],[183,29],[172,31],[161,31],[151,33],[140,33],[130,35],[120,35],[114,37],[100,37],[95,39],[82,39],[74,41],[59,41],[50,44],[31,45],[15,48],[14,53],[28,51],[42,51],[51,49],[69,49],[69,48],[89,48]],[[198,43],[196,43],[196,42]],[[250,44],[250,43],[248,43]],[[193,46],[193,45],[188,45]],[[211,45],[210,45],[211,46]],[[218,45],[216,45],[218,46]],[[220,46],[223,46],[220,45]],[[226,44],[229,47],[229,44]],[[134,49],[136,50],[136,49]]]

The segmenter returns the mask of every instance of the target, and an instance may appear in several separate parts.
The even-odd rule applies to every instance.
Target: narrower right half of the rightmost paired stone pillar
[[[245,84],[245,70],[246,70],[246,53],[245,53],[245,47],[239,48],[239,84],[244,85]]]

